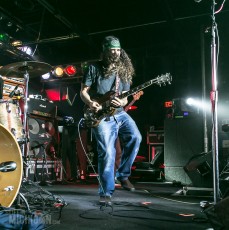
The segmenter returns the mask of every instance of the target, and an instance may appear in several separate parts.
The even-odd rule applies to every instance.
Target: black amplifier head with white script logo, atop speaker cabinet
[[[57,107],[54,103],[44,99],[29,98],[28,114],[54,118],[57,114]]]

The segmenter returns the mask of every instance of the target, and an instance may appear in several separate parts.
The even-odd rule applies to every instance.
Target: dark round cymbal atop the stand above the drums
[[[5,77],[23,78],[28,73],[29,77],[39,77],[50,72],[52,66],[44,62],[24,61],[16,62],[0,69],[0,75]]]

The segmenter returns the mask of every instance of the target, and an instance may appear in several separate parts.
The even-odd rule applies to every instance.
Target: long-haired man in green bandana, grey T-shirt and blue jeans
[[[119,136],[124,146],[117,179],[124,189],[133,191],[134,186],[128,177],[142,136],[134,120],[123,109],[127,104],[127,97],[119,99],[116,96],[130,90],[134,74],[131,60],[116,37],[105,37],[102,46],[102,61],[88,67],[82,80],[80,96],[89,107],[88,116],[90,113],[95,116],[101,113],[101,119],[99,117],[99,122],[92,127],[98,152],[99,203],[112,205],[117,137]],[[105,95],[109,91],[115,92],[108,100],[109,106],[105,102],[93,100],[93,94]],[[106,115],[103,116],[104,114]]]

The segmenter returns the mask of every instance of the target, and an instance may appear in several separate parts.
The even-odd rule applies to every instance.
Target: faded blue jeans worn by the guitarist
[[[92,129],[97,142],[99,195],[111,196],[115,190],[114,165],[116,139],[122,143],[121,164],[116,176],[122,181],[128,179],[131,167],[138,153],[142,136],[134,120],[124,111],[104,118]]]

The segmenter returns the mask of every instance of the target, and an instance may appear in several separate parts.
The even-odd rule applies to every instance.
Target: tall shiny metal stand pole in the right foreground
[[[212,41],[211,41],[211,74],[212,74],[212,91],[210,100],[212,105],[212,154],[213,154],[213,187],[214,187],[214,203],[220,199],[219,195],[219,152],[218,152],[218,90],[217,90],[217,56],[216,56],[216,28],[215,22],[215,0],[212,0]]]

